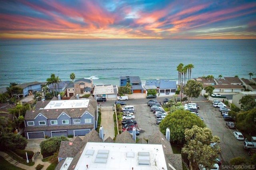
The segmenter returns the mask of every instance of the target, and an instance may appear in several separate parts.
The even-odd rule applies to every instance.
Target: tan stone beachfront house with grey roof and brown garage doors
[[[92,79],[80,78],[74,82],[70,82],[67,87],[67,97],[76,96],[76,94],[83,96],[84,94],[91,94],[93,90]]]

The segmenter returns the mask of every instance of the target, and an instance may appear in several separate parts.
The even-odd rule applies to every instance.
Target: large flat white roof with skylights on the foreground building
[[[162,145],[88,142],[74,170],[167,170]]]

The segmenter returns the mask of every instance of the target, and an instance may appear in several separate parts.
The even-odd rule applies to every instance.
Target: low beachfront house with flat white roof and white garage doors
[[[104,97],[107,99],[116,99],[118,94],[117,85],[96,85],[94,86],[93,95],[96,98]]]

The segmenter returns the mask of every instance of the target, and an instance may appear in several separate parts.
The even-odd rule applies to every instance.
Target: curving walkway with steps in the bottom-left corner
[[[50,165],[50,162],[42,161],[43,156],[41,154],[36,157],[35,164],[33,166],[27,166],[27,165],[21,164],[21,163],[17,162],[16,160],[13,160],[13,158],[11,158],[8,154],[6,154],[5,152],[2,152],[2,151],[0,151],[0,156],[2,156],[10,164],[13,164],[14,166],[17,166],[17,167],[25,169],[25,170],[35,170],[35,168],[38,164],[44,165],[42,170],[46,170],[46,168],[48,168],[48,166]]]

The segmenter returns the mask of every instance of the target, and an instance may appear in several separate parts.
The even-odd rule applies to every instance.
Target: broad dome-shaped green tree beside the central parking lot
[[[185,129],[191,129],[193,125],[205,127],[203,121],[190,111],[176,110],[166,115],[159,124],[159,130],[165,134],[166,128],[170,129],[170,141],[174,143],[184,143]]]

